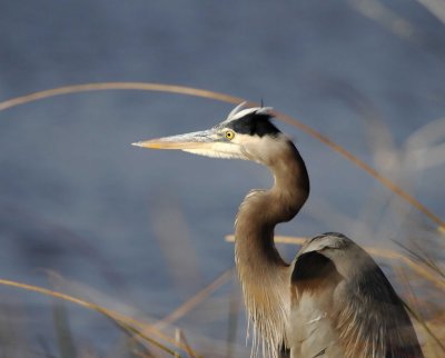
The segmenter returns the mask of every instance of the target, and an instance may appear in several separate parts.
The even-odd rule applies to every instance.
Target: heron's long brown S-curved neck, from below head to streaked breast
[[[275,183],[243,201],[235,223],[235,258],[254,328],[274,355],[285,339],[290,306],[288,265],[275,248],[274,229],[298,213],[309,195],[309,178],[290,141],[267,167]]]

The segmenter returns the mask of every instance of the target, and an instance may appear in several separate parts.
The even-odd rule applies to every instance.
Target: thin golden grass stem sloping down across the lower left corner
[[[55,298],[59,298],[59,299],[63,299],[66,301],[69,301],[71,304],[76,304],[78,306],[95,310],[103,316],[106,316],[107,318],[113,320],[116,324],[118,324],[119,326],[121,326],[122,328],[125,328],[128,331],[131,331],[134,334],[136,334],[137,336],[139,336],[140,338],[142,338],[144,340],[150,342],[151,345],[162,349],[164,351],[172,355],[172,356],[177,356],[178,352],[166,347],[165,345],[162,345],[161,342],[157,341],[156,339],[152,339],[150,337],[148,337],[147,335],[141,332],[141,329],[144,330],[148,330],[150,334],[158,336],[160,339],[164,339],[166,341],[168,341],[169,344],[180,348],[180,349],[185,349],[185,350],[189,350],[189,347],[186,347],[185,345],[181,344],[176,344],[174,338],[170,338],[166,335],[164,335],[162,332],[160,332],[159,330],[155,329],[151,326],[148,326],[147,324],[140,322],[134,318],[123,316],[121,314],[118,314],[116,311],[112,311],[110,309],[103,308],[99,305],[95,305],[91,302],[88,302],[83,299],[80,298],[76,298],[72,296],[69,296],[67,294],[62,294],[62,292],[58,292],[55,290],[50,290],[47,288],[42,288],[42,287],[38,287],[38,286],[32,286],[32,285],[28,285],[28,284],[21,284],[21,282],[17,282],[17,281],[11,281],[11,280],[6,280],[6,279],[0,279],[0,285],[3,286],[9,286],[9,287],[16,287],[16,288],[20,288],[20,289],[24,289],[27,291],[33,291],[33,292],[38,292],[41,295],[46,295],[46,296],[50,296],[50,297],[55,297]],[[141,328],[138,329],[135,326]],[[198,357],[198,355],[196,355],[194,352],[194,356]]]

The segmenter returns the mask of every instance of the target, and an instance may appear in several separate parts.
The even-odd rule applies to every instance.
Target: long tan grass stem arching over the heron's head
[[[210,98],[228,103],[240,103],[244,101],[243,98],[234,97],[225,93],[214,92],[204,89],[197,89],[191,87],[184,87],[184,86],[176,86],[176,84],[164,84],[164,83],[148,83],[148,82],[101,82],[101,83],[85,83],[85,84],[75,84],[75,86],[66,86],[55,89],[49,89],[44,91],[39,91],[34,93],[30,93],[22,97],[12,98],[10,100],[6,100],[0,102],[0,111],[6,110],[8,108],[12,108],[14,106],[24,105],[28,102],[37,101],[40,99],[53,97],[53,96],[61,96],[68,93],[77,93],[77,92],[87,92],[87,91],[97,91],[97,90],[145,90],[145,91],[157,91],[157,92],[168,92],[168,93],[178,93],[178,95],[187,95],[187,96],[195,96],[195,97],[202,97],[202,98]],[[260,106],[256,102],[247,101],[249,106]],[[423,212],[432,221],[437,225],[437,230],[442,233],[445,232],[445,221],[443,221],[438,216],[436,216],[433,211],[427,209],[423,203],[421,203],[417,199],[415,199],[412,195],[403,190],[396,183],[394,183],[388,178],[378,173],[374,168],[355,157],[353,153],[347,151],[342,146],[337,145],[336,142],[332,141],[329,138],[323,136],[314,128],[296,120],[295,118],[285,115],[283,112],[276,111],[275,112],[277,119],[280,119],[294,127],[299,128],[300,130],[305,131],[309,136],[316,138],[324,145],[328,146],[336,152],[340,153],[346,159],[350,160],[355,166],[360,168],[362,170],[369,173],[372,177],[377,179],[382,185],[386,188],[392,190],[394,193],[406,200],[409,205],[414,208]]]

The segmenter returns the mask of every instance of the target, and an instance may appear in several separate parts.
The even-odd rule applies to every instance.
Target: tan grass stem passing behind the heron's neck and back
[[[226,241],[234,242],[235,236],[228,235],[226,236]],[[288,245],[303,245],[307,238],[297,238],[290,236],[275,236],[274,238],[276,243],[288,243]],[[398,253],[393,250],[388,249],[380,249],[380,248],[372,248],[365,247],[365,250],[373,256],[380,257],[384,259],[396,259],[406,266],[408,266],[413,271],[418,274],[419,276],[426,278],[428,281],[433,282],[437,288],[445,289],[445,281],[442,280],[437,275],[428,270],[425,266],[414,261],[407,256]]]

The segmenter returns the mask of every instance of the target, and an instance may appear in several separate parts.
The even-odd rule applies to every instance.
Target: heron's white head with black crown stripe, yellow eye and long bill
[[[140,141],[134,146],[178,149],[200,156],[269,165],[280,143],[289,140],[271,122],[271,108],[244,108],[244,105],[237,106],[227,119],[210,129]]]

